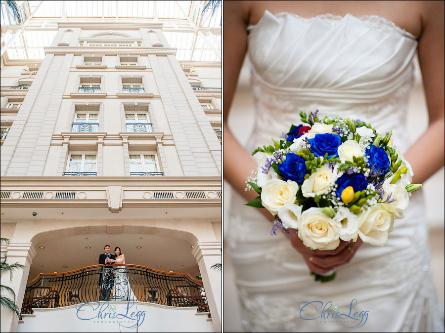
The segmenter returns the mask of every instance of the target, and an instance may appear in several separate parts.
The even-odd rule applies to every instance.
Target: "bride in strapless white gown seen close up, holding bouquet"
[[[444,165],[444,2],[224,1],[223,10],[223,165],[225,179],[237,192],[225,216],[224,239],[243,329],[443,332],[429,269],[422,191],[412,194],[386,246],[357,241],[347,247],[344,242],[323,255],[298,237],[270,236],[267,220],[272,216],[243,204],[257,196],[244,191],[246,178],[258,166],[250,152],[291,124],[301,124],[300,110],[318,109],[319,118],[334,111],[383,134],[392,129],[392,141],[412,165],[413,183],[423,183]],[[429,126],[409,147],[405,120],[416,51]],[[227,116],[245,55],[252,69],[255,117],[243,148],[227,127]],[[309,274],[334,268],[336,279],[325,284]],[[303,306],[315,301],[308,319]],[[331,316],[318,310],[319,304]],[[343,319],[334,320],[333,312],[344,314]]]

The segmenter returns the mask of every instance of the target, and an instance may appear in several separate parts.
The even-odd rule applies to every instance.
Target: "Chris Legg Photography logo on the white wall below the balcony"
[[[145,320],[146,311],[138,311],[134,301],[131,301],[131,303],[128,301],[124,307],[122,305],[122,303],[110,304],[108,301],[80,303],[76,306],[76,315],[80,320],[92,320],[93,324],[117,323],[130,329],[141,326]],[[132,309],[133,306],[134,309]]]

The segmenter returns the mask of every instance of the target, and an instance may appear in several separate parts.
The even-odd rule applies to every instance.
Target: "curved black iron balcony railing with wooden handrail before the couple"
[[[21,314],[31,314],[32,308],[55,308],[102,300],[197,306],[198,312],[209,312],[202,282],[188,273],[114,264],[39,274],[26,287]]]

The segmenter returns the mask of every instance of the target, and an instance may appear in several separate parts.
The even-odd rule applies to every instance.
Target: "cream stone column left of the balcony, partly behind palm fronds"
[[[9,287],[15,292],[15,304],[17,304],[20,311],[25,295],[29,269],[37,252],[32,243],[10,243],[6,250],[6,262],[8,264],[17,262],[25,266],[23,269],[18,268],[12,272],[11,281],[9,281],[10,275],[8,272],[3,272],[1,275],[1,285]],[[5,291],[4,294],[8,298],[13,299],[9,292]],[[1,332],[16,332],[18,320],[19,318],[14,312],[1,306]]]

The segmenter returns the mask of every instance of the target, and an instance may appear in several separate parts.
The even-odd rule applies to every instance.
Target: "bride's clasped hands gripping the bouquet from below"
[[[289,231],[293,235],[289,237],[292,246],[303,255],[309,269],[317,274],[326,274],[350,262],[363,243],[360,238],[358,238],[356,242],[340,240],[340,245],[335,250],[311,250],[305,246],[303,241],[296,235],[297,230],[290,229]]]

